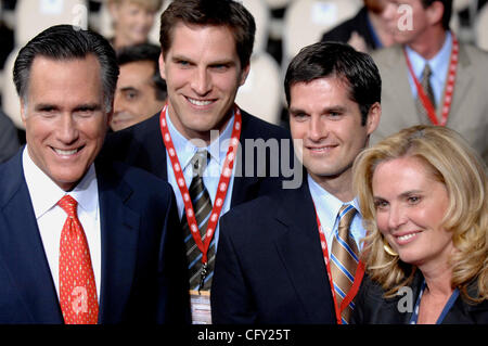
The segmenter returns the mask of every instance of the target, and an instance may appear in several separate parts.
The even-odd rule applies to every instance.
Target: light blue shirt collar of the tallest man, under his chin
[[[232,111],[232,116],[229,119],[229,121],[226,125],[226,128],[220,133],[220,136],[216,136],[216,139],[214,139],[209,145],[205,148],[197,148],[194,145],[191,141],[189,141],[183,134],[181,134],[175,125],[171,123],[171,118],[169,116],[169,110],[167,108],[167,116],[166,120],[168,124],[168,130],[169,134],[171,136],[172,145],[175,146],[175,150],[178,154],[178,161],[180,162],[181,167],[183,170],[185,167],[190,164],[190,161],[192,159],[193,155],[195,155],[196,151],[205,149],[213,159],[215,159],[219,165],[220,162],[224,162],[227,150],[229,148],[230,139],[232,137],[232,130],[234,127],[234,113]],[[218,131],[216,131],[217,134]],[[222,144],[227,144],[224,148],[221,148]],[[222,149],[222,150],[221,150]]]

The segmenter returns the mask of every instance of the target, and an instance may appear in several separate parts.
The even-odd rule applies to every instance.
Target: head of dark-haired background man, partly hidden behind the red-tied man
[[[114,131],[145,120],[163,108],[167,89],[159,74],[159,47],[151,43],[128,46],[117,52],[120,74],[111,121]]]

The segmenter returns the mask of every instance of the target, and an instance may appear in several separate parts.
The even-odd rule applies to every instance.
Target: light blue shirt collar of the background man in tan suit
[[[412,64],[413,73],[416,78],[421,80],[422,72],[424,71],[425,64],[428,63],[432,69],[432,76],[434,78],[445,79],[445,71],[449,65],[449,60],[452,50],[452,35],[450,31],[446,31],[446,39],[444,41],[442,48],[437,52],[437,54],[431,60],[425,60],[422,55],[406,46],[407,54],[409,56],[410,63]]]

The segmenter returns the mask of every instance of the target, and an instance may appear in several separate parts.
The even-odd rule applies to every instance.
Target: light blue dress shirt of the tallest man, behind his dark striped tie
[[[172,125],[171,119],[169,115],[167,114],[166,120],[168,124],[168,130],[169,134],[171,134],[172,144],[175,146],[175,150],[178,155],[178,159],[180,162],[180,165],[183,169],[183,176],[184,181],[187,182],[187,187],[189,188],[192,179],[193,179],[193,166],[190,165],[190,162],[195,155],[196,151],[198,150],[206,150],[210,154],[210,159],[207,164],[207,167],[204,170],[203,180],[205,188],[208,191],[208,194],[210,195],[211,205],[215,204],[215,197],[217,194],[217,188],[220,180],[220,172],[222,171],[223,163],[226,162],[228,145],[224,145],[230,142],[230,139],[232,137],[232,129],[234,126],[234,115],[230,118],[228,121],[226,128],[220,133],[220,136],[216,136],[216,139],[211,141],[211,143],[206,148],[197,148],[194,145],[191,141],[189,141],[187,138],[184,138]],[[223,146],[223,148],[221,148]],[[235,166],[233,167],[233,172],[229,181],[229,189],[227,190],[226,201],[222,205],[222,210],[220,212],[220,217],[229,212],[231,198],[232,198],[232,189],[234,185],[234,171]],[[176,195],[176,202],[178,206],[178,214],[181,219],[184,212],[184,202],[183,197],[181,196],[180,189],[178,188],[178,184],[176,182],[175,178],[175,171],[172,170],[171,161],[169,159],[168,151],[166,150],[166,167],[168,172],[168,182],[171,184],[172,190],[175,191]],[[213,242],[216,242],[216,252],[217,252],[217,244],[219,240],[219,225],[217,223],[217,228],[214,233],[214,240]]]

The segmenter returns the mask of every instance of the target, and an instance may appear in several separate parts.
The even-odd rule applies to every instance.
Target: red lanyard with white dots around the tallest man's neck
[[[234,127],[232,129],[232,138],[226,155],[226,161],[223,163],[222,174],[220,175],[217,195],[215,197],[214,207],[211,208],[210,219],[208,220],[207,233],[204,243],[198,231],[198,225],[196,223],[192,201],[190,198],[190,193],[184,181],[183,169],[178,159],[178,154],[175,150],[171,136],[169,134],[168,125],[166,121],[167,110],[168,104],[164,106],[159,115],[160,132],[163,134],[163,140],[169,154],[169,159],[172,165],[172,171],[175,172],[178,188],[180,189],[181,196],[183,197],[188,225],[190,226],[190,230],[193,239],[195,240],[196,246],[198,246],[200,251],[202,252],[202,262],[205,265],[207,262],[208,247],[210,246],[211,239],[214,238],[214,233],[217,228],[217,222],[219,221],[219,215],[222,210],[223,201],[226,201],[227,190],[229,188],[229,181],[230,177],[232,176],[232,168],[234,166],[234,158],[237,153],[237,145],[242,127],[241,111],[236,105],[234,105]]]

